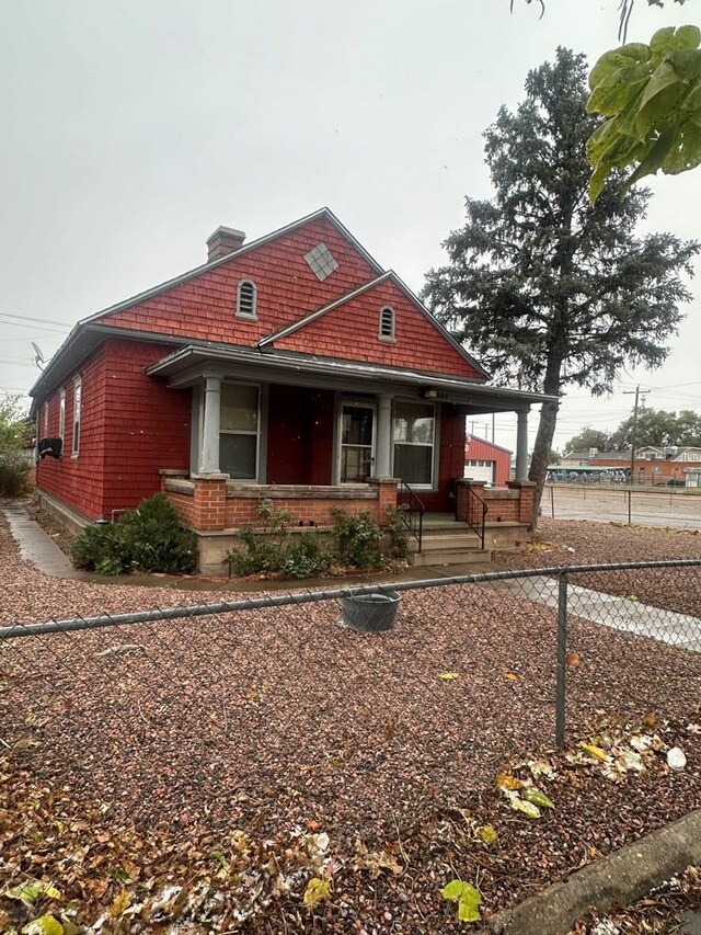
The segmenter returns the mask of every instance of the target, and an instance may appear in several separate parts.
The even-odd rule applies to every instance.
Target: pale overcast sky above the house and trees
[[[616,45],[617,7],[0,0],[0,389],[34,383],[32,340],[48,358],[79,318],[204,262],[220,224],[253,239],[329,205],[420,290],[464,195],[490,195],[482,132],[499,105],[559,44],[591,62]],[[629,39],[698,12],[637,0]],[[701,169],[653,189],[646,229],[701,236]],[[657,409],[701,409],[691,287],[665,367],[622,374],[609,399],[573,392],[556,446],[616,426],[637,381]],[[512,419],[496,442],[513,444]]]

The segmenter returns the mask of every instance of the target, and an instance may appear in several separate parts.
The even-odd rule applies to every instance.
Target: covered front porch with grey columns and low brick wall
[[[288,512],[299,529],[330,529],[335,506],[369,510],[384,526],[398,501],[409,505],[412,533],[416,515],[427,511],[450,512],[473,527],[489,514],[495,532],[491,544],[481,531],[480,548],[486,549],[502,547],[512,522],[522,539],[532,518],[532,497],[525,492],[527,426],[539,395],[371,364],[211,346],[180,350],[147,373],[192,389],[189,470],[161,471],[162,489],[199,535],[206,573],[221,572],[221,556],[241,526],[255,525],[262,500]],[[463,479],[466,418],[487,412],[516,415],[517,481],[509,490]]]

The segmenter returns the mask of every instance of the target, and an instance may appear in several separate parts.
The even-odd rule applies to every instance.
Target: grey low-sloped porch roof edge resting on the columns
[[[542,392],[495,387],[482,380],[403,369],[335,357],[231,345],[192,343],[147,368],[149,376],[168,377],[171,386],[186,386],[203,376],[238,376],[250,379],[340,388],[356,392],[406,392],[481,407],[481,411],[513,412],[556,399]]]

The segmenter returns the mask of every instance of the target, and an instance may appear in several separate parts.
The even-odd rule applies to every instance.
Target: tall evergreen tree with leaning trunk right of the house
[[[587,197],[586,62],[559,48],[526,80],[515,113],[502,107],[485,137],[491,201],[467,198],[467,224],[445,241],[424,298],[496,379],[560,397],[575,385],[610,391],[623,365],[659,366],[690,294],[696,241],[635,235],[646,190],[607,185]],[[559,401],[541,408],[530,478],[537,504]],[[538,512],[538,511],[536,511]]]

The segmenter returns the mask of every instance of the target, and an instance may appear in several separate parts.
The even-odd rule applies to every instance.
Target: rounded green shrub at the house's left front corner
[[[119,523],[88,526],[73,543],[71,557],[77,568],[102,574],[134,569],[183,574],[196,569],[197,537],[181,528],[173,505],[157,493]]]

